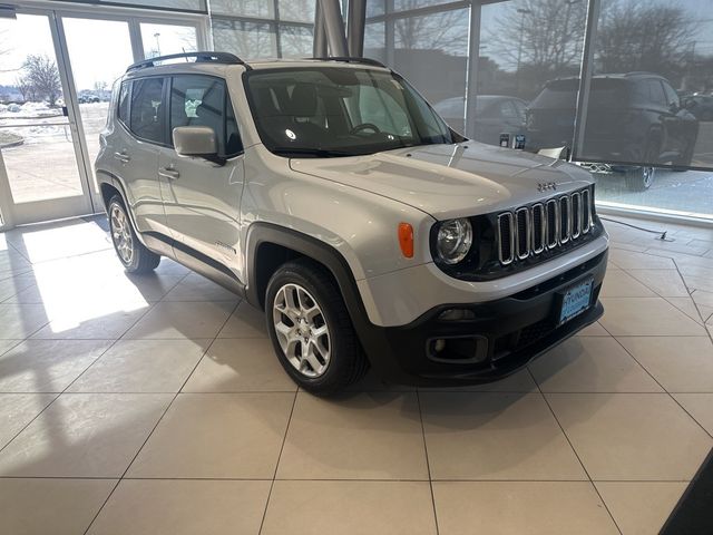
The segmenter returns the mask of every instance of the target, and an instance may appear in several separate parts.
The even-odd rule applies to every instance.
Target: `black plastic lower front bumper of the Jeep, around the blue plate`
[[[407,325],[371,324],[360,339],[372,367],[390,382],[458,386],[501,379],[602,317],[598,295],[606,262],[605,251],[508,298],[442,304]],[[587,278],[594,280],[589,308],[557,327],[560,296]],[[468,310],[472,319],[440,319],[449,309]],[[446,341],[445,350],[433,350],[437,340]]]

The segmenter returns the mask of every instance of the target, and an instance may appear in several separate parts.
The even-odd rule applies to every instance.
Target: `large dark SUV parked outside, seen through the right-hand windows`
[[[527,147],[572,145],[578,78],[548,81],[527,110]],[[579,157],[619,166],[633,189],[646,189],[656,165],[691,165],[697,119],[668,80],[648,72],[599,75],[592,80]]]

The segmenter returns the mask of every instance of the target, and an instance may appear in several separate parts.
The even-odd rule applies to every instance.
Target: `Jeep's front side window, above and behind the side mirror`
[[[212,76],[173,77],[170,86],[170,132],[179,126],[208,126],[215,132],[218,155],[235,156],[243,150],[237,120],[225,80]]]

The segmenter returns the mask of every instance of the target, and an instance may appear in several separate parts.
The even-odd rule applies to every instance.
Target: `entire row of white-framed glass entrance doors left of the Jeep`
[[[205,25],[79,6],[0,19],[0,230],[102,210],[94,160],[114,81],[145,57],[207,49]]]

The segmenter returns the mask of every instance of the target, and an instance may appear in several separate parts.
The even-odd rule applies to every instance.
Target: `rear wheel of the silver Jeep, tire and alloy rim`
[[[119,262],[124,264],[126,272],[148,273],[154,271],[160,262],[160,255],[146,249],[146,245],[138,240],[131,218],[119,195],[115,195],[109,201],[107,217],[109,218],[109,235],[114,251],[116,251]],[[125,226],[119,225],[121,217]]]

